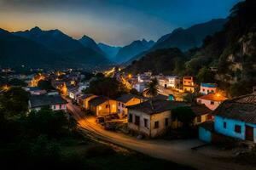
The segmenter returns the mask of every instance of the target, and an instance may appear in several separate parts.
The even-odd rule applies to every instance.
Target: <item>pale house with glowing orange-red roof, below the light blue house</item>
[[[210,110],[214,111],[218,105],[226,100],[221,94],[207,94],[196,99],[198,104],[206,105]]]

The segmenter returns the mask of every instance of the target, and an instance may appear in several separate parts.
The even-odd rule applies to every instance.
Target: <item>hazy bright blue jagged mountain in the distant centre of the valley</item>
[[[116,54],[114,61],[118,63],[126,62],[133,56],[148,50],[153,45],[154,41],[146,41],[145,39],[131,42],[131,44],[119,49],[119,53]]]

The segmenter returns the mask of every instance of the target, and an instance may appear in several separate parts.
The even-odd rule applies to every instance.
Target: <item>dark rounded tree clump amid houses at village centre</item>
[[[97,78],[90,82],[90,87],[85,90],[85,93],[104,95],[113,99],[126,92],[124,85],[112,77]]]

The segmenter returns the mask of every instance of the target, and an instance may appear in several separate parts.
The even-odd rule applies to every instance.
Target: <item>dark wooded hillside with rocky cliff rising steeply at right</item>
[[[218,82],[219,88],[231,96],[252,93],[256,86],[256,1],[247,0],[237,3],[230,11],[230,16],[221,31],[208,36],[201,48],[190,50],[181,65],[183,69],[173,71],[163,61],[166,50],[159,49],[155,53],[146,54],[142,59],[134,61],[126,71],[142,72],[151,70],[153,63],[163,73],[195,76],[197,82]],[[166,54],[167,55],[167,54]],[[151,56],[151,57],[149,57]],[[167,58],[167,57],[165,57]],[[161,60],[161,61],[159,61]],[[167,61],[166,61],[167,62]],[[153,65],[152,71],[155,71]],[[215,67],[217,71],[212,71]]]

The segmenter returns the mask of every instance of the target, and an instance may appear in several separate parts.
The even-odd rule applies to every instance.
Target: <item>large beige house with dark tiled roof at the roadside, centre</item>
[[[169,127],[177,127],[172,121],[172,109],[184,105],[183,102],[158,99],[128,106],[128,127],[133,132],[154,138]]]

